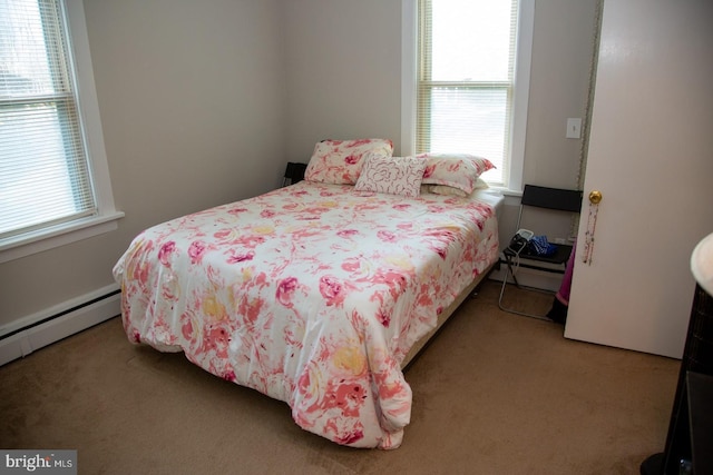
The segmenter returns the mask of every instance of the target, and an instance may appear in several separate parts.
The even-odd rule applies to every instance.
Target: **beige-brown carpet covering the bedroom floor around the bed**
[[[680,362],[567,340],[498,310],[498,290],[409,367],[395,451],[306,433],[284,403],[130,345],[118,318],[0,367],[0,447],[78,449],[80,474],[637,474],[663,451]]]

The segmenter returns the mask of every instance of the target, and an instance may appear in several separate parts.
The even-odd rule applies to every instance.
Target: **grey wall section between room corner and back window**
[[[401,0],[285,0],[287,156],[401,136]]]

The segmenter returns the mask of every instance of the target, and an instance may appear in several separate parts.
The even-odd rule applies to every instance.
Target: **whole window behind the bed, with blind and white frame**
[[[404,0],[403,73],[412,77],[404,90],[412,98],[403,98],[402,142],[410,152],[486,157],[497,168],[482,178],[519,190],[533,10],[533,0]]]

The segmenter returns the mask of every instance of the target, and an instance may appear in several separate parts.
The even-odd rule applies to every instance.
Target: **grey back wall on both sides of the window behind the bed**
[[[323,138],[387,137],[400,152],[401,0],[285,0],[287,155],[306,161]],[[537,0],[524,182],[576,188],[597,0]],[[508,199],[502,241],[515,232]],[[541,232],[568,237],[569,219]]]

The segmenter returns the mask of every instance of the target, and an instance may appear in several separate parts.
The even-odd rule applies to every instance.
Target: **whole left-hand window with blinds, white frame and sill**
[[[0,0],[0,261],[104,232],[89,228],[123,216],[85,28],[81,0]]]

